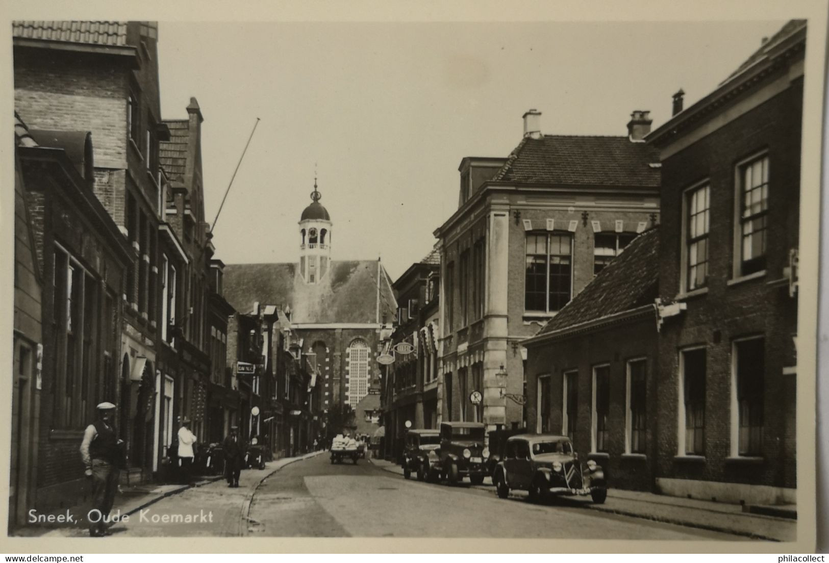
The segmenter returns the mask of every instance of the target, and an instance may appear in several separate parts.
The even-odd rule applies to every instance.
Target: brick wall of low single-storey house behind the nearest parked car
[[[574,449],[579,459],[595,459],[613,488],[651,490],[652,468],[657,454],[657,340],[656,322],[652,315],[604,330],[597,330],[567,339],[541,343],[527,350],[527,431],[538,432],[538,377],[550,376],[550,432],[564,434],[562,427],[564,373],[577,370],[578,407],[574,431]],[[627,416],[627,362],[647,358],[647,438],[646,455],[625,455]],[[608,454],[592,455],[593,367],[610,366],[610,411],[608,415]]]

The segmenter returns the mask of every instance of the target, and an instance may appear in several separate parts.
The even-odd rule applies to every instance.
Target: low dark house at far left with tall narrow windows
[[[78,447],[95,405],[119,400],[120,296],[134,260],[93,192],[90,133],[27,130],[22,123],[17,119],[17,187],[31,223],[18,225],[16,249],[12,425],[21,444],[12,451],[23,456],[12,456],[21,497],[12,498],[10,522],[18,523],[29,508],[66,507],[90,493]],[[38,279],[47,280],[40,295]]]

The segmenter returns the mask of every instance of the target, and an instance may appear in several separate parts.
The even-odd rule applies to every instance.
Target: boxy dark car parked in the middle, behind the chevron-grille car
[[[486,426],[482,422],[440,424],[440,469],[450,485],[468,477],[473,485],[487,476],[489,450],[483,447]]]

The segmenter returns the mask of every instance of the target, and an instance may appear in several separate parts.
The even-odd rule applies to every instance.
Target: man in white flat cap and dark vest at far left
[[[100,512],[95,522],[90,522],[90,536],[104,536],[104,520],[109,516],[118,491],[119,466],[123,463],[124,440],[118,438],[113,425],[115,405],[101,403],[97,407],[98,419],[86,427],[84,441],[80,444],[80,459],[85,474],[92,479],[92,509]]]

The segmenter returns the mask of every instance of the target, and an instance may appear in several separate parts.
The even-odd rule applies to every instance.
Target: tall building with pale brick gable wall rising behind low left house
[[[14,22],[12,36],[15,107],[32,129],[90,131],[95,139],[92,189],[133,249],[124,287],[117,290],[124,305],[120,356],[114,360],[121,374],[118,425],[128,446],[123,478],[150,478],[161,449],[153,401],[163,211],[158,143],[169,135],[160,116],[157,26]],[[80,420],[73,422],[67,448],[80,442],[82,428]],[[68,459],[64,467],[70,467]]]

